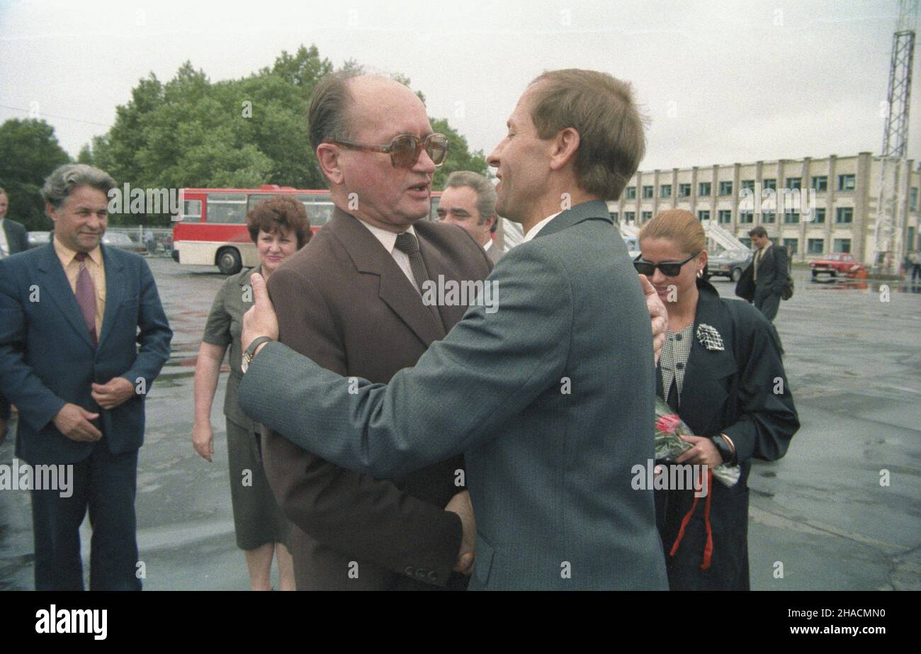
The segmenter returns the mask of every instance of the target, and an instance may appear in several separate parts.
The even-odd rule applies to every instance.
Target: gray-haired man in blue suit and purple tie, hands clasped
[[[36,590],[83,590],[87,508],[90,590],[141,589],[137,450],[172,332],[144,259],[99,243],[114,187],[90,166],[55,169],[41,190],[52,242],[0,261],[0,391],[19,410],[17,457],[73,466],[69,496],[32,490]]]

